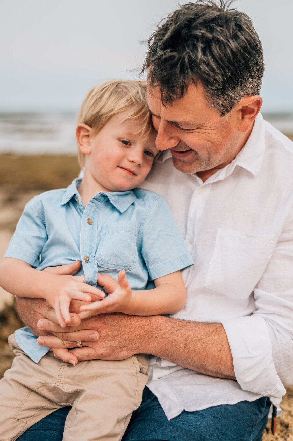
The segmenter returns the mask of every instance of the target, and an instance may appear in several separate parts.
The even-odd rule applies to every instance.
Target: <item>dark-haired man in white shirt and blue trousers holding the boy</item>
[[[263,55],[252,23],[222,1],[171,14],[149,40],[144,70],[163,150],[144,187],[167,199],[189,244],[185,308],[173,318],[75,317],[65,330],[39,300],[20,300],[19,311],[39,344],[82,341],[80,360],[154,355],[123,441],[258,441],[271,402],[293,383],[293,145],[259,114]],[[42,439],[33,430],[50,418],[61,440],[66,409],[19,440]]]

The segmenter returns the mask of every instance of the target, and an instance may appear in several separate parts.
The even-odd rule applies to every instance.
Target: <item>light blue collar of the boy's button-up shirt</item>
[[[82,200],[80,194],[78,193],[78,187],[82,182],[82,178],[74,179],[72,183],[67,187],[65,193],[63,194],[62,202],[60,205],[65,205],[69,202],[74,196],[78,196],[78,203],[82,205]],[[136,201],[137,197],[135,196],[132,190],[127,191],[112,191],[110,193],[105,193],[104,191],[99,191],[96,193],[91,200],[103,200],[108,198],[111,204],[117,208],[120,213],[124,213],[131,204]]]

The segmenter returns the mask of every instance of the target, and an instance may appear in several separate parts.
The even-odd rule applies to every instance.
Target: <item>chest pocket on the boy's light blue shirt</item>
[[[96,262],[103,268],[134,269],[138,260],[136,224],[130,221],[105,225],[101,231]]]

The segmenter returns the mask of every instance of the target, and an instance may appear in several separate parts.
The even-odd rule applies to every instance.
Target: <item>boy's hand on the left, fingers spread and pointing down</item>
[[[54,308],[57,320],[63,328],[71,323],[69,313],[71,299],[83,302],[104,299],[104,292],[82,283],[84,279],[84,276],[52,275],[52,284],[47,285],[45,299]]]

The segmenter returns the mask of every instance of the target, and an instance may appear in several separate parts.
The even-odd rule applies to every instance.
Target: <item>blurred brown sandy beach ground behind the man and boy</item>
[[[290,135],[293,139],[293,135]],[[3,257],[11,235],[26,203],[36,194],[53,188],[67,187],[78,176],[75,156],[68,155],[0,155],[0,258]],[[7,337],[23,326],[13,297],[0,288],[0,377],[12,363],[13,353]],[[293,387],[287,390],[273,436],[270,421],[263,432],[263,441],[293,441]]]

